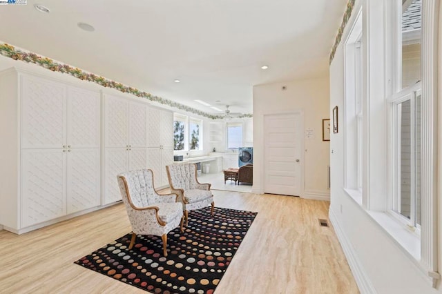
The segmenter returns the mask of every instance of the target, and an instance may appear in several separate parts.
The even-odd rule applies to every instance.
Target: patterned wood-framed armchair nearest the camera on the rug
[[[117,176],[119,190],[126,205],[132,225],[129,249],[135,244],[137,235],[156,235],[163,240],[163,253],[167,256],[167,233],[181,222],[184,215],[182,204],[176,194],[159,195],[153,186],[152,170],[133,170]]]

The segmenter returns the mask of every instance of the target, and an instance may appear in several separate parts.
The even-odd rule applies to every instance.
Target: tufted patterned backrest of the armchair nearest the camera
[[[130,204],[128,203],[126,186],[121,177],[126,179],[128,193],[131,195],[131,201],[135,207],[146,207],[155,202],[152,170],[131,170],[118,175],[119,189],[127,208]]]

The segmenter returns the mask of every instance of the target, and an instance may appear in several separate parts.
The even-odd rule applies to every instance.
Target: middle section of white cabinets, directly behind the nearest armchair
[[[148,108],[104,95],[104,204],[122,199],[117,175],[148,166]]]

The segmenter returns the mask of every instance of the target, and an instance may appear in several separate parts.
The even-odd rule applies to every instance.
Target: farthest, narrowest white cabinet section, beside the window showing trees
[[[148,108],[148,168],[155,188],[169,184],[166,166],[173,164],[173,112]]]

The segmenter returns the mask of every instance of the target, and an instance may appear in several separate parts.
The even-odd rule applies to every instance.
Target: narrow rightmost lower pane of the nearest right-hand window
[[[414,121],[414,138],[415,138],[415,173],[416,173],[416,224],[421,224],[421,95],[415,99],[415,121]]]

